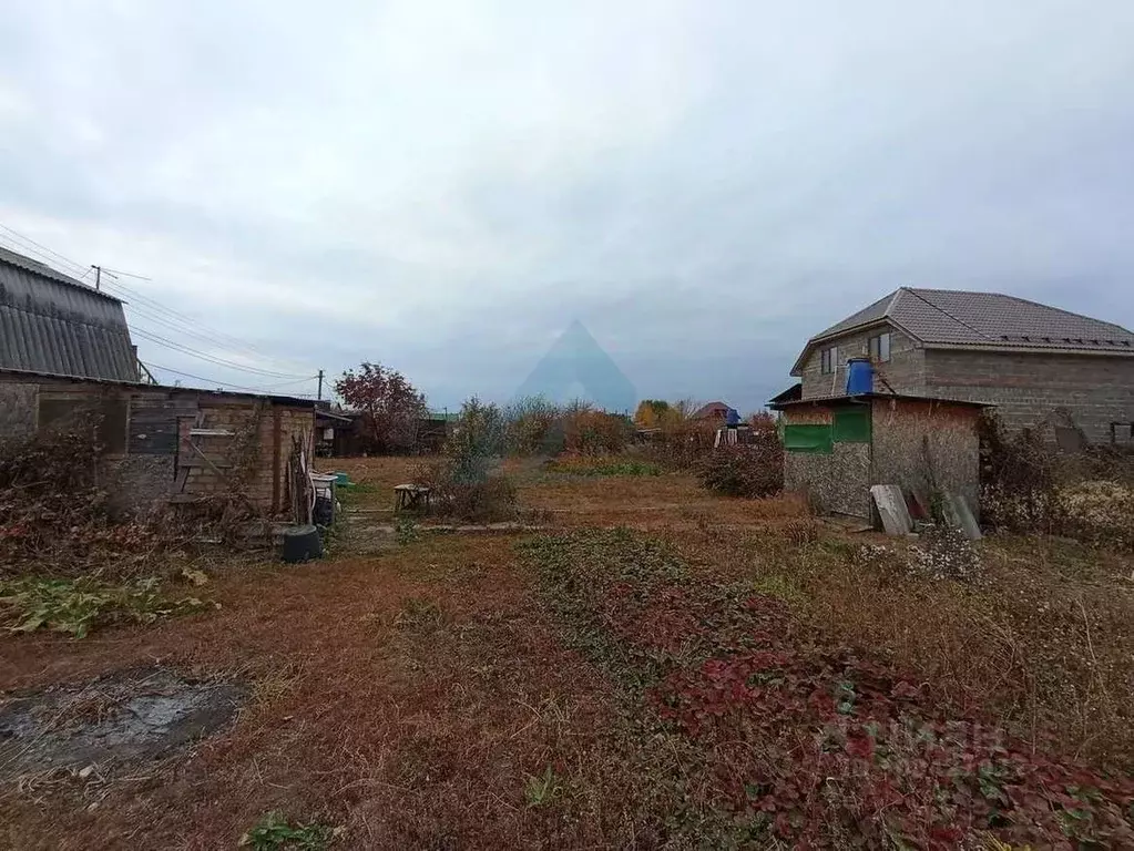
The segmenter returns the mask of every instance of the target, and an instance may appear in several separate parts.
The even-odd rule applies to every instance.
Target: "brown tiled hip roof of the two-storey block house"
[[[883,321],[930,348],[1134,355],[1134,332],[1110,322],[999,292],[903,287],[811,338],[792,374],[814,344]]]

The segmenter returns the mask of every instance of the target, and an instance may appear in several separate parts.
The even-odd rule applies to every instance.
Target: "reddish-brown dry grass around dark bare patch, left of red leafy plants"
[[[5,689],[160,658],[230,671],[254,699],[231,734],[160,780],[111,785],[94,810],[82,795],[64,793],[49,812],[9,792],[0,846],[225,848],[271,809],[344,825],[362,846],[617,834],[623,814],[607,823],[601,790],[636,781],[606,743],[619,724],[609,689],[557,641],[509,562],[509,541],[435,538],[397,564],[345,559],[221,580],[221,613],[174,629],[3,639]],[[524,798],[548,765],[575,784],[552,812]]]

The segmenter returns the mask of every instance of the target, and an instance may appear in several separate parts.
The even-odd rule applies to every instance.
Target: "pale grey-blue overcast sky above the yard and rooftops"
[[[1129,0],[14,2],[0,224],[279,373],[135,340],[226,383],[505,400],[577,318],[753,409],[899,286],[1134,326],[1132,45]]]

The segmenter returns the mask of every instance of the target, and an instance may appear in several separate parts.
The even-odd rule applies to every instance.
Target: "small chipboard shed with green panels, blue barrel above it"
[[[784,486],[824,513],[872,518],[870,486],[898,485],[923,501],[962,494],[978,508],[984,405],[864,393],[773,402],[784,429]]]

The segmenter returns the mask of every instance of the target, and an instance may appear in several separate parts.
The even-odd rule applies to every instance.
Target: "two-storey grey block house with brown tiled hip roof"
[[[991,403],[1009,428],[1059,420],[1092,443],[1134,440],[1134,333],[1109,322],[995,292],[903,287],[807,341],[792,368],[799,398],[846,395],[855,357],[873,361],[878,393]]]

